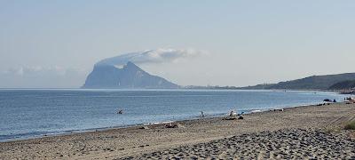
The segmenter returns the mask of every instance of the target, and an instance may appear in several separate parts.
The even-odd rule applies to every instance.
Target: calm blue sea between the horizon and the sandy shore
[[[343,100],[343,96],[281,91],[0,90],[0,140],[192,119],[201,111],[221,116],[231,109],[294,107]],[[124,114],[116,114],[118,109]]]

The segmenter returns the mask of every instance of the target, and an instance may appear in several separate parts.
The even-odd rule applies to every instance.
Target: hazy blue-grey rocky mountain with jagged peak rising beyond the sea
[[[132,62],[122,68],[112,65],[95,65],[82,88],[114,89],[173,89],[177,84],[159,76],[152,76]]]

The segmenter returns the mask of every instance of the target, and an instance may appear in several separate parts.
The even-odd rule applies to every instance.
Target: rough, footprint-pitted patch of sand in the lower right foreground
[[[355,141],[319,130],[283,129],[242,134],[117,159],[355,159]]]

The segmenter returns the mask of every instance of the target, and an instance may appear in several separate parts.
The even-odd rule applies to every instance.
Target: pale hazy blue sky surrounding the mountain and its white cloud
[[[0,0],[0,87],[79,87],[99,60],[160,48],[140,67],[181,85],[355,72],[355,1]]]

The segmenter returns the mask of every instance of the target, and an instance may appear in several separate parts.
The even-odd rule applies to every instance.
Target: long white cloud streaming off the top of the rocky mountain
[[[193,49],[159,48],[156,50],[122,54],[116,57],[101,60],[96,63],[96,65],[122,66],[128,61],[136,64],[171,62],[180,59],[194,58],[204,53],[206,52]]]

